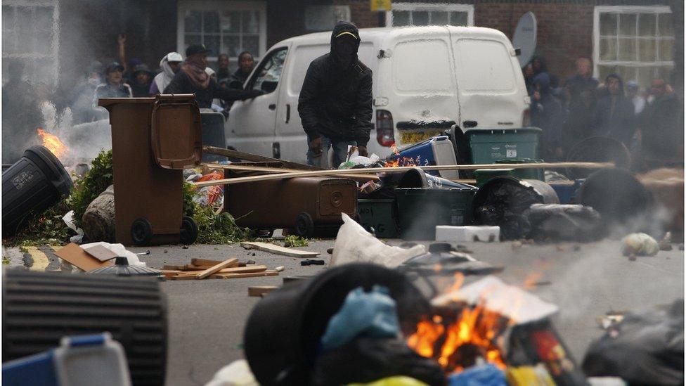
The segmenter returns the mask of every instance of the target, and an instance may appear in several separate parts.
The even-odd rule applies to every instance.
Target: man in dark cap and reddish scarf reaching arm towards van
[[[207,68],[207,53],[201,44],[191,44],[186,49],[186,60],[181,64],[181,70],[176,72],[174,79],[164,89],[164,94],[195,94],[200,108],[210,108],[213,98],[221,98],[227,102],[243,101],[264,94],[261,90],[222,89],[216,80],[210,77]]]

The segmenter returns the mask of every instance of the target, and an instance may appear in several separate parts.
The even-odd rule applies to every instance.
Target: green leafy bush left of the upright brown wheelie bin
[[[86,207],[112,185],[113,181],[112,150],[101,151],[84,178],[75,182],[72,195],[67,199],[70,208],[74,210],[75,221],[81,221]]]

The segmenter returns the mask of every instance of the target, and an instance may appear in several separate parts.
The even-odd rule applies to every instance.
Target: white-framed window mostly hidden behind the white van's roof
[[[393,3],[386,25],[474,25],[474,6],[465,4]]]

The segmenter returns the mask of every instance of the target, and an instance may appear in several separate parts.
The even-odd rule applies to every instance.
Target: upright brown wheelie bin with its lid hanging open
[[[183,169],[202,158],[195,96],[101,98],[98,105],[112,126],[117,243],[193,243],[198,226],[183,216]]]

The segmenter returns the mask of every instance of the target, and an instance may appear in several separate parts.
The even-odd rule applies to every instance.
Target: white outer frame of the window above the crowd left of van
[[[186,19],[183,15],[186,11],[258,11],[259,12],[259,52],[253,52],[255,60],[261,58],[266,52],[267,45],[267,5],[266,1],[212,1],[212,0],[179,0],[176,8],[176,51],[186,56],[184,48],[184,34],[186,32]],[[216,61],[222,52],[212,52],[208,56],[209,61]],[[229,60],[238,60],[231,57]]]

